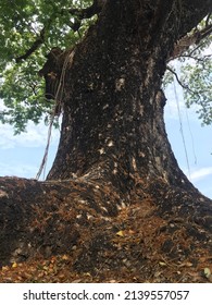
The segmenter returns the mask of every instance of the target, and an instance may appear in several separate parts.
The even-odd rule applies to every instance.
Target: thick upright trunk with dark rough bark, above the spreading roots
[[[138,179],[191,188],[167,141],[160,89],[179,35],[179,8],[147,2],[108,1],[86,39],[58,57],[64,115],[49,180],[101,179],[125,198]],[[43,73],[55,68],[49,61]]]

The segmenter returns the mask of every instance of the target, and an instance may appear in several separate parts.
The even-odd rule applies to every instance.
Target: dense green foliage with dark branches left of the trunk
[[[45,83],[38,76],[45,56],[52,47],[71,48],[87,29],[82,21],[72,29],[77,16],[73,8],[86,8],[91,1],[2,0],[0,3],[0,98],[3,100],[0,121],[25,131],[28,120],[48,122],[52,102],[45,99]],[[25,54],[32,49],[28,57]],[[24,59],[22,59],[24,58]]]

